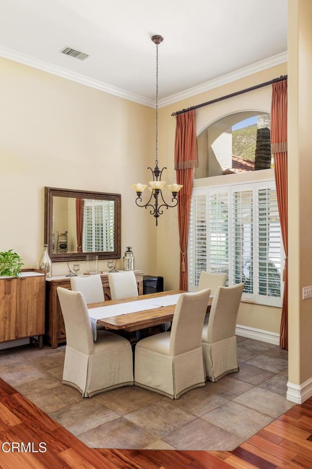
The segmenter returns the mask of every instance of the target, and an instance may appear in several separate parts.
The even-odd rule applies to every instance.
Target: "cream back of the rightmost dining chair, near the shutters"
[[[207,338],[203,341],[213,344],[235,336],[238,307],[243,293],[244,284],[220,286],[210,310],[207,327]]]

